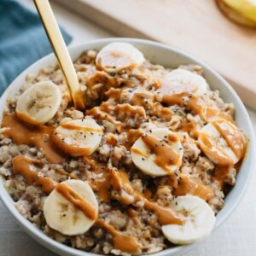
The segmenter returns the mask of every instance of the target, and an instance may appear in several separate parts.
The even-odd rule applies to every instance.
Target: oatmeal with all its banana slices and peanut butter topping
[[[201,67],[155,65],[130,44],[91,49],[74,67],[84,112],[57,66],[28,75],[4,109],[0,174],[20,214],[90,253],[208,236],[247,148],[233,105]]]

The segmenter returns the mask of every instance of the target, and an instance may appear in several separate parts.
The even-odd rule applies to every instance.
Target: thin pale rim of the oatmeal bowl
[[[212,67],[209,67],[206,63],[204,63],[203,61],[199,60],[198,58],[195,58],[191,55],[189,55],[187,52],[184,52],[183,50],[174,48],[172,46],[166,45],[166,44],[161,44],[158,42],[154,42],[154,41],[150,41],[150,40],[146,40],[146,39],[139,39],[139,38],[102,38],[102,39],[95,39],[95,40],[90,40],[87,42],[84,42],[82,44],[76,44],[73,46],[68,47],[68,51],[72,52],[75,49],[79,49],[79,48],[83,48],[88,49],[88,45],[89,44],[109,44],[109,43],[113,43],[113,42],[126,42],[126,43],[131,43],[131,44],[143,44],[143,45],[147,45],[149,47],[153,47],[153,48],[161,48],[161,49],[166,49],[167,51],[172,51],[173,53],[177,54],[177,55],[181,55],[184,58],[186,58],[187,60],[199,64],[201,67],[203,67],[204,70],[207,70],[208,73],[211,73],[213,77],[215,77],[216,79],[218,79],[219,84],[221,84],[221,86],[226,87],[227,90],[229,90],[230,94],[232,95],[232,97],[234,98],[234,101],[237,102],[237,104],[239,105],[239,108],[241,109],[241,112],[244,113],[244,121],[247,123],[247,131],[248,131],[248,136],[250,139],[249,145],[247,147],[247,152],[248,149],[250,150],[250,155],[254,155],[255,154],[255,139],[254,139],[254,135],[253,135],[253,125],[251,123],[251,120],[248,116],[247,113],[247,109],[244,107],[243,103],[241,102],[240,97],[236,94],[236,91],[233,90],[233,88],[231,87],[231,85],[224,79],[222,78],[214,69],[212,69]],[[82,52],[82,51],[81,51]],[[0,102],[5,102],[7,96],[9,96],[9,93],[13,90],[13,88],[17,87],[20,88],[20,86],[22,84],[20,84],[19,86],[15,84],[17,83],[17,81],[19,81],[20,77],[24,76],[26,73],[28,73],[28,70],[31,69],[34,66],[40,65],[40,63],[50,60],[51,62],[56,62],[56,60],[54,59],[54,54],[51,53],[49,55],[44,56],[43,58],[39,59],[38,61],[34,62],[30,67],[27,67],[22,73],[20,73],[17,78],[11,83],[9,84],[9,87],[4,91],[3,95],[0,98]],[[54,60],[54,61],[52,61]],[[48,64],[49,65],[49,64]],[[44,66],[40,67],[43,68]],[[3,109],[0,109],[0,111],[2,112]],[[2,114],[2,113],[1,113]],[[244,161],[248,161],[249,162],[249,170],[247,173],[247,177],[246,180],[244,181],[244,186],[241,188],[240,190],[240,194],[239,196],[236,198],[236,201],[234,204],[230,205],[230,207],[228,209],[225,209],[224,214],[222,215],[222,218],[218,219],[214,230],[212,230],[212,232],[214,232],[215,230],[217,230],[217,228],[224,223],[224,221],[230,217],[230,213],[233,212],[235,210],[235,208],[237,207],[238,203],[241,201],[241,197],[242,195],[244,195],[245,190],[247,189],[247,184],[250,180],[252,171],[253,171],[253,158],[248,158],[247,156],[245,157]],[[0,199],[1,201],[3,201],[3,205],[9,210],[9,212],[14,216],[15,220],[18,222],[18,224],[20,224],[20,226],[26,230],[26,232],[32,236],[36,241],[38,241],[40,244],[42,244],[44,247],[47,247],[48,249],[52,250],[55,253],[61,253],[61,254],[65,254],[65,255],[80,255],[80,256],[96,256],[99,254],[96,253],[88,253],[88,252],[84,252],[81,251],[79,249],[75,249],[73,247],[69,247],[67,245],[62,244],[59,241],[55,241],[54,239],[50,238],[49,236],[45,235],[43,233],[42,230],[38,230],[38,228],[36,226],[34,226],[29,220],[27,220],[26,218],[24,218],[20,212],[17,211],[17,209],[15,208],[14,204],[10,204],[9,201],[13,201],[12,198],[10,197],[10,195],[8,194],[7,190],[3,187],[3,182],[2,182],[2,177],[0,177],[1,182],[0,182]],[[235,186],[236,188],[236,186]],[[233,190],[233,189],[232,189]],[[217,216],[218,218],[218,216]],[[205,240],[203,240],[205,241]],[[160,251],[159,253],[154,253],[152,255],[154,256],[167,256],[167,255],[177,255],[180,253],[186,253],[188,251],[190,251],[193,247],[197,246],[199,243],[201,243],[202,241],[198,241],[195,242],[191,245],[188,246],[176,246],[176,247],[171,247],[171,248],[166,248],[163,251]]]

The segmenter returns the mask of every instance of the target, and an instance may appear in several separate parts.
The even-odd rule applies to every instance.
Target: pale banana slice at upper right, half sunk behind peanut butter
[[[189,92],[201,96],[207,90],[209,90],[209,85],[203,77],[179,68],[166,73],[160,88],[160,92],[165,95]]]

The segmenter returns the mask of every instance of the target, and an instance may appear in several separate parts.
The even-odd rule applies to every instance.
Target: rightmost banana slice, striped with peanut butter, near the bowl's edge
[[[199,133],[201,150],[219,166],[233,166],[246,149],[246,139],[236,125],[226,120],[217,120],[205,125]]]

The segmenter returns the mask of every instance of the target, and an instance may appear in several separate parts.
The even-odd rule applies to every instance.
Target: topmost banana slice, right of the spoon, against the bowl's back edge
[[[137,67],[145,61],[143,54],[131,44],[112,43],[96,56],[96,66],[108,73],[117,73],[128,67]]]

